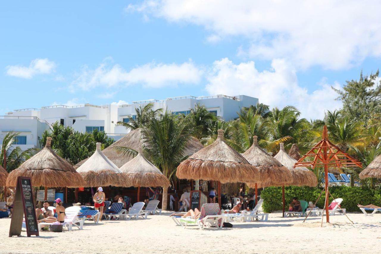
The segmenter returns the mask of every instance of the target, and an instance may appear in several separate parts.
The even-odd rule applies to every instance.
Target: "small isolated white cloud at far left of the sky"
[[[56,64],[49,59],[36,58],[32,60],[28,67],[20,65],[6,66],[6,74],[24,79],[31,79],[37,74],[50,74],[54,71]]]

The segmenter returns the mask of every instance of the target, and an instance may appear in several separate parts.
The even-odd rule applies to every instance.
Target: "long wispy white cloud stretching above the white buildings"
[[[192,61],[182,64],[147,63],[126,71],[119,64],[110,66],[106,61],[95,70],[84,66],[77,79],[70,84],[70,90],[77,88],[90,90],[93,87],[142,84],[146,87],[160,88],[177,84],[196,84],[200,82],[202,71]]]

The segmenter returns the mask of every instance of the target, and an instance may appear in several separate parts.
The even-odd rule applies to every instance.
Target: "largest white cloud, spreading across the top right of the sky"
[[[145,0],[126,11],[192,23],[219,37],[245,36],[249,57],[285,58],[296,68],[349,68],[381,55],[380,1]]]

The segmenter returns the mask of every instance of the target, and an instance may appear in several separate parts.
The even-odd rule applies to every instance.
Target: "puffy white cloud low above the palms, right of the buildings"
[[[208,72],[206,90],[210,95],[253,96],[271,107],[296,106],[303,117],[312,119],[323,118],[323,109],[341,107],[341,102],[335,101],[337,94],[325,82],[308,92],[298,84],[295,68],[284,59],[274,59],[271,66],[271,70],[259,72],[253,61],[234,64],[223,58]],[[333,86],[340,87],[336,83]]]

